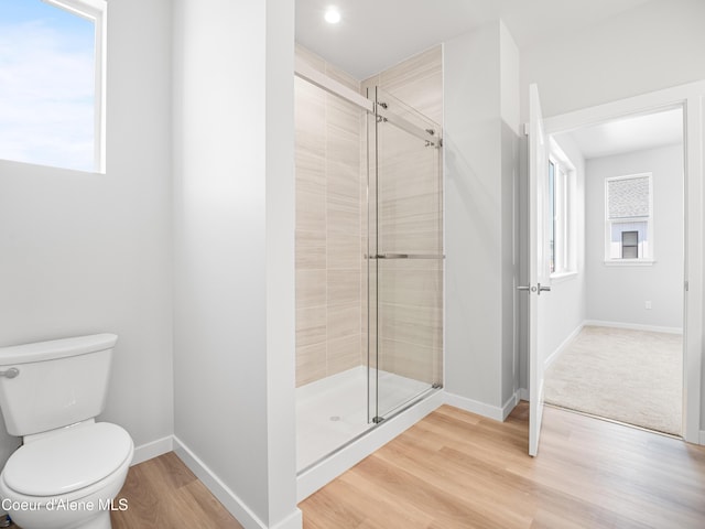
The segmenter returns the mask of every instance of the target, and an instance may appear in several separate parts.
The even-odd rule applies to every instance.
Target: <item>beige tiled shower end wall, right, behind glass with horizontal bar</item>
[[[376,85],[442,126],[441,46],[365,80],[364,94],[368,88],[373,94]],[[395,101],[387,102],[390,111],[400,111]],[[390,125],[379,130],[380,251],[442,253],[442,172],[437,156],[429,151],[433,148],[420,145],[417,140]],[[421,381],[441,381],[443,261],[380,261],[379,289],[370,293],[371,301],[376,294],[379,295],[379,368]],[[362,310],[365,324],[366,307]],[[364,332],[364,339],[365,336]],[[362,354],[365,361],[365,348]]]

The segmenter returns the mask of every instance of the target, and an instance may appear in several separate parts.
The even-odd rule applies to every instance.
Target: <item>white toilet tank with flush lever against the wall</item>
[[[98,415],[118,337],[94,334],[0,347],[0,409],[11,435],[30,435]]]

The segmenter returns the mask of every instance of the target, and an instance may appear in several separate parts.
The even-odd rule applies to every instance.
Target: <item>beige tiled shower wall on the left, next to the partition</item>
[[[310,65],[359,82],[297,46]],[[360,365],[364,112],[295,79],[296,386]]]

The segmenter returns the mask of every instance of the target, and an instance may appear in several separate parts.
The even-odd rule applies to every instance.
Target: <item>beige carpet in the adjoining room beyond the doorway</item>
[[[681,435],[683,338],[586,326],[545,373],[545,402]]]

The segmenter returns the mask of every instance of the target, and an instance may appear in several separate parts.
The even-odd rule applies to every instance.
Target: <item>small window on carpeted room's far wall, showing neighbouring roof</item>
[[[605,261],[653,261],[651,173],[605,179]]]

